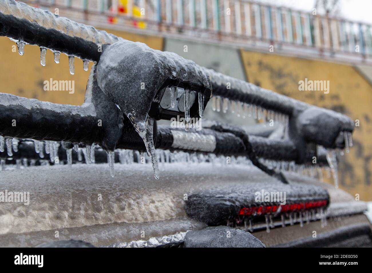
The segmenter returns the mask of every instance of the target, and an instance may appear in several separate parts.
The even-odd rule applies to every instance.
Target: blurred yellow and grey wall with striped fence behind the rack
[[[363,200],[372,200],[372,28],[368,23],[340,18],[337,9],[342,5],[309,0],[312,4],[307,11],[299,12],[271,5],[275,1],[25,2],[359,120],[360,126],[353,134],[354,147],[339,157],[340,187]],[[0,67],[2,92],[53,103],[83,103],[89,72],[83,71],[80,59],[76,58],[75,74],[71,75],[66,55],[61,54],[60,64],[55,64],[48,51],[43,67],[37,46],[26,45],[25,54],[19,56],[14,45],[8,38],[0,38],[0,49],[7,52]],[[44,81],[50,78],[74,80],[74,94],[44,91]],[[298,82],[305,78],[329,80],[329,94],[299,91]],[[256,122],[238,119],[231,113],[212,113],[208,108],[207,115],[212,118],[242,126]]]

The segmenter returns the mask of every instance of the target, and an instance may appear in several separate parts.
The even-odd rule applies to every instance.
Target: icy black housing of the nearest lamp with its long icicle
[[[154,176],[158,178],[153,119],[148,116],[155,95],[166,80],[211,89],[209,77],[195,62],[175,53],[151,49],[144,43],[121,40],[103,49],[97,65],[99,87],[131,120],[144,140]]]

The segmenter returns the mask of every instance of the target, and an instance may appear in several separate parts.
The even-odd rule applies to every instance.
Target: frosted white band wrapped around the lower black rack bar
[[[186,133],[171,130],[172,148],[201,152],[213,152],[216,149],[216,138],[210,134]]]

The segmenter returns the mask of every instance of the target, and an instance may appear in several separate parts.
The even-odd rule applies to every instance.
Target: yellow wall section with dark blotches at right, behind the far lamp
[[[354,146],[339,163],[340,188],[372,200],[372,86],[351,65],[241,51],[249,82],[360,120]],[[300,80],[329,80],[330,92],[299,91]],[[325,128],[326,129],[326,128]]]

